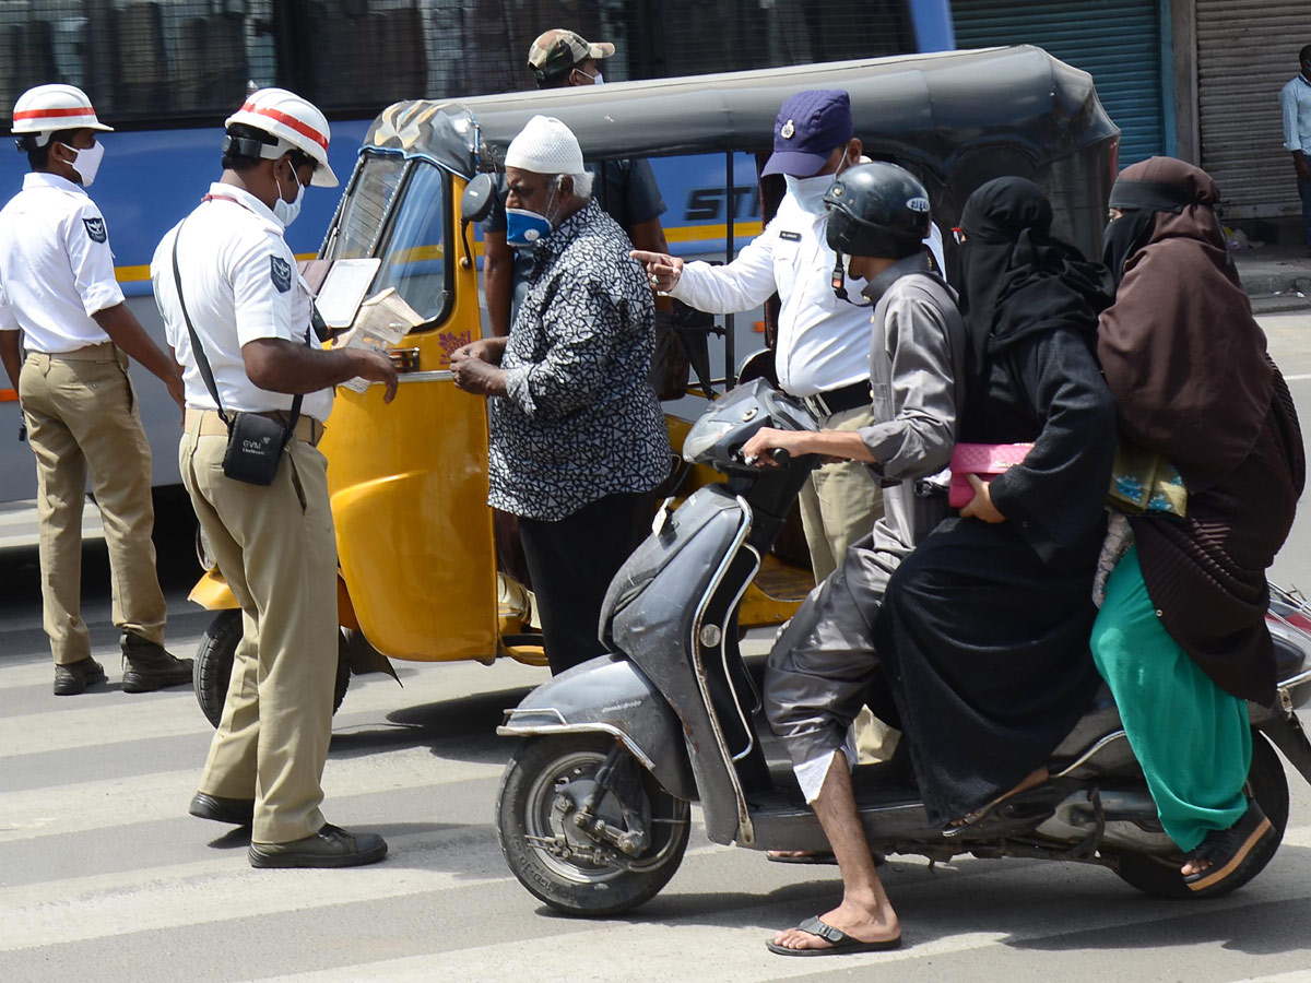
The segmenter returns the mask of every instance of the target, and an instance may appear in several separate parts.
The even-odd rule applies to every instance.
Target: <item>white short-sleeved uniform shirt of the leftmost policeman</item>
[[[0,330],[29,351],[56,354],[109,341],[92,315],[123,303],[105,216],[81,185],[31,173],[0,210]]]

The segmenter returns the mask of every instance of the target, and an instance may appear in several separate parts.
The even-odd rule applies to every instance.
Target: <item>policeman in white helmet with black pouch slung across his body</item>
[[[223,176],[155,250],[151,279],[186,385],[178,464],[243,613],[223,717],[190,813],[253,826],[253,866],[355,866],[374,834],[324,820],[323,769],[337,665],[337,544],[317,450],[332,387],[354,376],[396,395],[372,349],[323,350],[312,298],[283,239],[307,185],[334,187],[328,122],[284,89],[227,121]],[[208,377],[206,377],[208,376]],[[269,484],[224,464],[243,414],[284,427]],[[250,421],[246,421],[250,422]],[[258,419],[254,422],[260,422]]]

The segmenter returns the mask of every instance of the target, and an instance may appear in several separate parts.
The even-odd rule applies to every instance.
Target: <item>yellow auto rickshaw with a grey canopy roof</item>
[[[389,106],[367,132],[320,250],[332,266],[324,291],[342,265],[342,280],[361,298],[395,288],[421,321],[397,346],[396,400],[384,405],[379,387],[340,391],[321,444],[340,562],[338,701],[351,672],[388,671],[388,658],[545,665],[527,585],[513,565],[498,569],[486,505],[486,404],[451,381],[451,353],[481,337],[484,324],[476,236],[459,210],[468,182],[496,170],[528,118],[558,117],[589,160],[652,161],[673,206],[665,228],[675,252],[730,260],[783,194],[781,180],[756,177],[777,107],[810,88],[851,93],[867,153],[897,160],[924,181],[939,228],[957,223],[982,182],[1023,174],[1050,195],[1062,235],[1097,248],[1118,131],[1091,79],[1034,47]],[[952,253],[948,242],[949,263]],[[680,337],[696,384],[666,404],[675,467],[662,495],[718,478],[682,464],[684,421],[737,381],[739,336],[758,328],[768,342],[773,312],[766,304],[722,325],[684,318]],[[708,343],[713,334],[722,346]],[[768,374],[768,359],[754,359],[750,371]],[[762,561],[739,630],[781,624],[813,587],[804,548],[779,549]],[[198,653],[195,688],[216,722],[241,620],[219,571],[202,562],[207,570],[190,596],[218,613]]]

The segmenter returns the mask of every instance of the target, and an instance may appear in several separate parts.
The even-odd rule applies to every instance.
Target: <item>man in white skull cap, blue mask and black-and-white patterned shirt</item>
[[[509,337],[464,346],[451,370],[490,397],[488,503],[519,516],[547,659],[561,672],[604,650],[606,588],[669,472],[646,381],[654,305],[627,236],[591,199],[569,127],[530,119],[505,178],[506,237],[532,250],[531,286]]]

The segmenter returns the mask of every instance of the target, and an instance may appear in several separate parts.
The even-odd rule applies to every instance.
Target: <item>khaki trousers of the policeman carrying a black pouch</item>
[[[248,485],[223,474],[225,450],[218,414],[187,410],[182,482],[243,628],[199,790],[253,798],[252,840],[288,843],[324,826],[338,632],[328,461],[294,439],[273,484]]]

